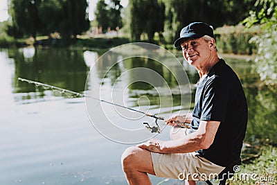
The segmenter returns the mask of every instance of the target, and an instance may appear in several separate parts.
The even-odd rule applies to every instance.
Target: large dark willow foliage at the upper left
[[[87,0],[10,0],[8,33],[36,37],[58,31],[75,37],[89,29],[87,6]]]

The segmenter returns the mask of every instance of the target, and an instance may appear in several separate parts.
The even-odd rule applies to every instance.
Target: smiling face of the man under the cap
[[[188,64],[194,67],[202,67],[208,62],[211,57],[210,42],[206,42],[203,38],[188,39],[181,43],[183,56]]]

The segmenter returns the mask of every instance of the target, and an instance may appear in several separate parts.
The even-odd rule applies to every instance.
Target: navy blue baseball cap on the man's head
[[[208,35],[210,37],[215,37],[213,35],[213,28],[211,26],[208,26],[208,24],[204,22],[193,22],[188,24],[188,26],[184,27],[180,32],[180,37],[177,39],[174,43],[175,47],[178,47],[181,45],[181,42],[190,39],[190,38],[200,38],[204,35]]]

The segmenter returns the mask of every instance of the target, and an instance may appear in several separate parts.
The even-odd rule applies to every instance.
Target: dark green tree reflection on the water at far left
[[[33,57],[30,53],[33,54]],[[26,55],[28,55],[27,58]],[[82,51],[52,48],[9,49],[8,57],[12,58],[15,64],[13,84],[15,93],[29,93],[23,94],[21,100],[44,98],[48,92],[42,87],[17,81],[18,77],[45,82],[73,91],[84,91],[88,67],[84,62]],[[17,96],[17,100],[19,98]]]

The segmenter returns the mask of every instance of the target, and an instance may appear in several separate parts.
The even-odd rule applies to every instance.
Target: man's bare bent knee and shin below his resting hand
[[[151,152],[138,147],[127,148],[121,157],[121,164],[130,185],[151,184],[148,173],[155,175]]]

